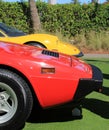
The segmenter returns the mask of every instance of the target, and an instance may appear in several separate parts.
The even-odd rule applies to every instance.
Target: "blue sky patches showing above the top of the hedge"
[[[21,1],[21,0],[4,0],[4,1],[8,1],[8,2],[14,2],[14,1]],[[27,1],[27,0],[24,0]],[[37,1],[37,0],[36,0]],[[42,0],[44,2],[47,2],[48,0]],[[64,3],[70,3],[72,0],[56,0],[56,2],[58,4],[64,4]],[[103,3],[106,0],[99,0],[99,3]],[[79,0],[80,3],[90,3],[91,0]]]

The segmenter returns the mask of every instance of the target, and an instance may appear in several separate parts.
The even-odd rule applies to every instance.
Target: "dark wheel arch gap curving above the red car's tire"
[[[35,92],[34,92],[34,90],[33,90],[33,88],[32,88],[32,85],[31,85],[30,81],[28,80],[28,78],[27,78],[22,72],[20,72],[20,71],[17,70],[16,68],[13,68],[13,67],[8,66],[8,65],[3,65],[3,64],[0,64],[0,69],[10,70],[10,71],[12,71],[12,72],[18,74],[20,77],[22,77],[22,78],[26,81],[26,83],[28,84],[28,86],[29,86],[29,88],[30,88],[30,90],[31,90],[31,92],[32,92],[34,104],[35,104],[35,105],[39,105],[39,107],[41,107],[41,106],[40,106],[40,103],[39,103],[39,101],[38,101],[37,95],[35,94]]]

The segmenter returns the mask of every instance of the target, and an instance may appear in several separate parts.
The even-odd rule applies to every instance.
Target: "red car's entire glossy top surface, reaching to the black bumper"
[[[15,60],[19,59],[22,62],[28,60],[37,62],[43,67],[64,67],[91,74],[90,66],[79,58],[42,48],[0,42],[0,55],[2,55],[2,52],[5,56]]]

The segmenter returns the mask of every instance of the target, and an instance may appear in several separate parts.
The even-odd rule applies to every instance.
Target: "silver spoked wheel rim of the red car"
[[[18,100],[13,89],[0,82],[0,124],[9,121],[17,111]]]

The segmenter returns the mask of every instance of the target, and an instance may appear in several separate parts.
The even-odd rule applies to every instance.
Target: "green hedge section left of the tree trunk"
[[[29,20],[25,9],[27,10],[27,5],[24,6],[21,3],[0,2],[0,21],[29,32]]]

